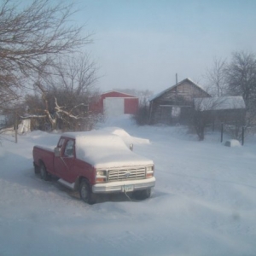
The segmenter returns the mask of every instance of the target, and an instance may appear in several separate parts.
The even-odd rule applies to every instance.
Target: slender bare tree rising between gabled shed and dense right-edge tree
[[[211,69],[207,69],[206,79],[209,87],[209,93],[212,96],[224,96],[226,91],[225,76],[226,61],[213,58]]]

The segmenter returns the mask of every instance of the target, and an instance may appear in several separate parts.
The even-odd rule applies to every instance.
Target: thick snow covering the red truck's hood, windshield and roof
[[[96,168],[154,164],[153,160],[132,152],[121,137],[108,131],[67,132],[63,136],[75,138],[77,158]]]

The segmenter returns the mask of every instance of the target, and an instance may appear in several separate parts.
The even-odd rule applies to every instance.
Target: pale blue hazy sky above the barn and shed
[[[161,90],[190,78],[204,85],[213,57],[256,53],[254,0],[83,0],[79,20],[102,91]]]

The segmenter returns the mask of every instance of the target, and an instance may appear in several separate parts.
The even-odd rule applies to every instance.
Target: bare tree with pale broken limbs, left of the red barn
[[[66,61],[65,61],[66,60]],[[35,96],[27,96],[30,117],[43,119],[52,129],[90,129],[94,124],[89,105],[96,99],[96,66],[88,55],[66,57],[44,79],[38,77]],[[38,95],[40,100],[38,101]],[[37,102],[38,101],[38,102]],[[27,118],[27,117],[26,117]],[[90,124],[88,128],[88,124]]]

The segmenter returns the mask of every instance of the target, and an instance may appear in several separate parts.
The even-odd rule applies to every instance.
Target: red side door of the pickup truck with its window
[[[65,179],[69,183],[73,183],[76,174],[74,170],[75,163],[75,141],[67,138],[66,142],[61,146],[61,156],[55,157],[55,172],[58,177]]]

